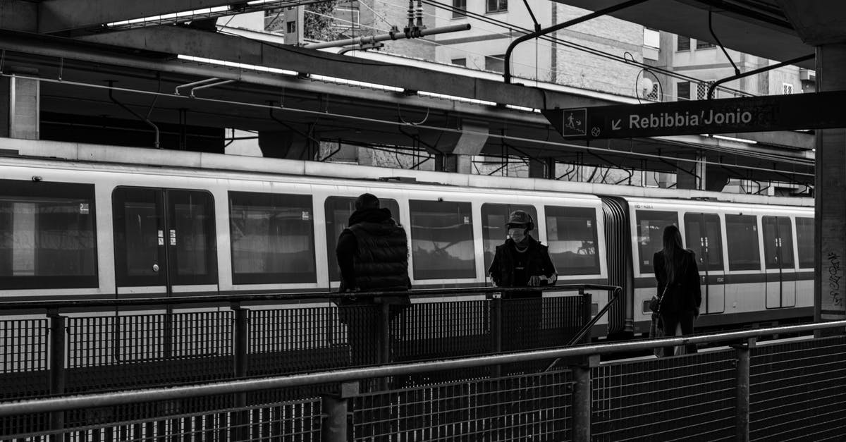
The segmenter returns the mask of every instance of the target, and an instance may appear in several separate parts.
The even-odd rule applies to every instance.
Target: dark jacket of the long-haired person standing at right
[[[661,302],[662,314],[678,314],[679,312],[698,312],[702,304],[702,290],[700,289],[699,268],[696,266],[694,251],[684,250],[674,257],[675,281],[664,294]],[[657,296],[661,296],[667,286],[667,263],[664,253],[656,251],[652,257],[655,265],[655,278],[658,281]]]

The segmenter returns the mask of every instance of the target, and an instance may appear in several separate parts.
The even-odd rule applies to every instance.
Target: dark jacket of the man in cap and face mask
[[[547,246],[540,242],[527,237],[528,245],[526,254],[525,273],[527,276],[546,276],[552,278],[555,272],[555,265],[552,264],[552,259],[549,257],[549,250]],[[524,284],[516,284],[514,281],[514,253],[517,251],[514,248],[514,240],[508,238],[505,243],[497,246],[497,252],[491,262],[491,267],[488,268],[487,273],[491,275],[491,279],[498,287],[525,287]],[[529,294],[532,296],[540,296],[540,292]]]

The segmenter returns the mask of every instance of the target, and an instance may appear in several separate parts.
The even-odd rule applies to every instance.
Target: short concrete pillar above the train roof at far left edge
[[[38,140],[41,83],[25,76],[0,78],[0,136]]]

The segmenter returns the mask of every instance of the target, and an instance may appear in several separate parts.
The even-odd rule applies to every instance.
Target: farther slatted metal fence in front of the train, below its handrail
[[[525,290],[0,303],[0,312],[7,318],[0,320],[0,342],[4,344],[0,349],[0,399],[561,346],[585,331],[591,319],[591,290],[619,291],[606,285],[558,285],[544,290],[564,292],[565,296],[503,299]],[[566,296],[568,292],[574,296]],[[411,305],[378,302],[378,298],[398,294],[426,296],[428,301]],[[345,307],[332,303],[349,296],[375,301]],[[444,301],[432,301],[432,296]],[[318,307],[275,304],[305,300]],[[320,301],[326,302],[326,307],[319,307]],[[138,312],[138,308],[147,312]],[[47,315],[15,319],[16,309],[41,309]],[[85,313],[95,309],[100,311]],[[540,368],[486,367],[479,373],[450,376],[499,376],[533,369]],[[443,373],[438,373],[395,381],[409,384],[443,379]]]

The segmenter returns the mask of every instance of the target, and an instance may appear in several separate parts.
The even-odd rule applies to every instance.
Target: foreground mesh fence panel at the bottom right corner
[[[754,347],[750,440],[843,440],[846,337]]]

